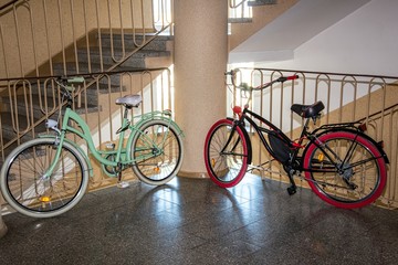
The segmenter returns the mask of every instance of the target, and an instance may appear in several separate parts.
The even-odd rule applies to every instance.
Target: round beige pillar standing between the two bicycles
[[[176,121],[185,132],[181,177],[205,177],[207,131],[226,117],[228,1],[175,0]]]

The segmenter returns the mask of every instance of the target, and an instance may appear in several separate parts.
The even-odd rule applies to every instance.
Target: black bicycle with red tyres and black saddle
[[[250,87],[244,83],[235,86],[235,71],[226,74],[231,76],[234,87],[248,92],[248,103],[253,91],[298,78],[297,75],[281,76]],[[304,125],[300,138],[291,140],[272,123],[250,110],[249,104],[243,109],[233,107],[237,118],[218,120],[206,137],[205,162],[209,177],[218,186],[231,188],[251,170],[252,144],[245,127],[249,123],[268,152],[283,165],[291,182],[289,194],[296,192],[293,178],[297,176],[308,182],[316,195],[335,206],[352,209],[373,203],[387,180],[389,161],[383,141],[376,142],[367,136],[366,125],[360,123],[328,124],[311,131],[310,121],[316,123],[323,109],[322,102],[293,104],[291,110],[304,118]]]

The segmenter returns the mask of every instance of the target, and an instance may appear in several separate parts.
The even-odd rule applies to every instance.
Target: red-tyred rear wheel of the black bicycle
[[[378,148],[350,131],[328,132],[318,140],[329,150],[324,152],[312,144],[305,153],[304,168],[312,170],[305,172],[311,189],[338,208],[360,208],[376,201],[387,179]]]

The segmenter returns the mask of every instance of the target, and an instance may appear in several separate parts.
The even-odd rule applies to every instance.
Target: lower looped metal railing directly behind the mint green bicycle
[[[130,117],[135,117],[132,119],[133,123],[138,120],[139,115],[151,110],[174,109],[171,71],[167,67],[103,72],[81,76],[85,77],[85,83],[74,94],[74,110],[90,126],[95,146],[103,150],[105,149],[103,144],[117,140],[116,130],[122,125],[123,109],[115,104],[117,97],[129,94],[143,96],[139,108],[130,110]],[[7,81],[8,96],[2,98],[0,105],[0,165],[17,145],[40,134],[46,134],[44,123],[48,118],[57,119],[59,115],[62,117],[60,107],[64,103],[60,87],[54,82],[57,77]],[[85,142],[81,144],[88,153]],[[116,183],[116,179],[109,179],[100,168],[95,167],[94,170],[90,189]],[[133,172],[127,172],[124,178],[135,177]]]

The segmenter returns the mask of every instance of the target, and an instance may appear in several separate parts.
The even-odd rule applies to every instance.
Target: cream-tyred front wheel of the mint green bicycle
[[[57,146],[53,138],[38,138],[17,147],[0,172],[1,192],[18,212],[32,218],[51,218],[72,209],[88,183],[87,165],[75,147],[65,142],[52,172]]]

